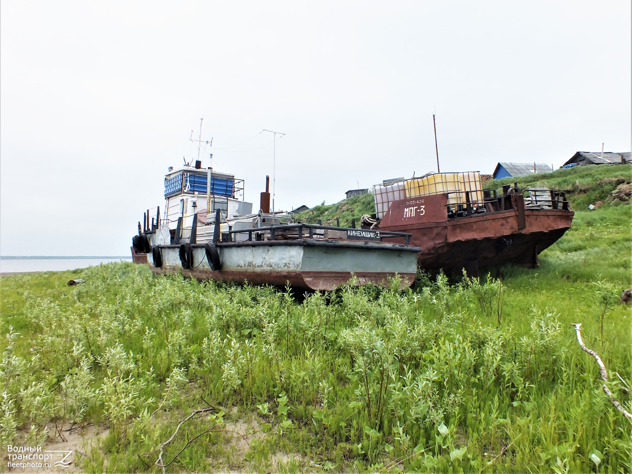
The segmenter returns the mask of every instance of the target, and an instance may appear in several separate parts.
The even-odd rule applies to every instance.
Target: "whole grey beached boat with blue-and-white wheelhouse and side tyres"
[[[421,249],[409,245],[410,233],[295,223],[289,212],[270,213],[267,177],[255,213],[242,179],[200,160],[169,167],[164,186],[163,212],[145,212],[131,247],[133,261],[157,274],[314,290],[415,281]],[[394,238],[401,242],[384,241]]]

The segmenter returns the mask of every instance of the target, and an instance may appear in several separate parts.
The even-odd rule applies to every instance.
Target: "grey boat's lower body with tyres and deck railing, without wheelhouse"
[[[246,233],[252,240],[233,240]],[[147,260],[155,273],[300,289],[332,290],[349,281],[387,286],[392,277],[405,289],[415,281],[420,249],[380,241],[410,235],[372,231],[365,232],[372,240],[344,238],[353,233],[358,231],[305,224],[230,231],[224,241],[151,245]],[[159,240],[156,233],[147,237],[150,244]]]

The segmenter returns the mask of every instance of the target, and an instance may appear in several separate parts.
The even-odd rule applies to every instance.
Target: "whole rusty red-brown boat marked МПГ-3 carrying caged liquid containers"
[[[483,189],[480,173],[428,173],[374,186],[372,229],[411,233],[422,269],[478,274],[479,267],[537,267],[538,255],[571,227],[566,195],[547,188]],[[369,219],[370,221],[370,219]],[[368,226],[365,226],[368,227]],[[401,238],[386,238],[401,242]]]

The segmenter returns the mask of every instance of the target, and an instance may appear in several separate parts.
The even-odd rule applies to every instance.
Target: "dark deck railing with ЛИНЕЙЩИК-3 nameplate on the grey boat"
[[[288,230],[296,229],[296,234],[293,232],[288,235]],[[319,231],[323,231],[320,233]],[[287,240],[289,236],[298,240],[305,238],[313,239],[315,236],[324,236],[324,231],[340,231],[346,233],[346,238],[349,240],[372,240],[382,241],[383,238],[403,237],[404,244],[410,245],[411,233],[406,232],[393,232],[393,231],[381,231],[372,229],[354,229],[346,227],[334,227],[334,226],[321,226],[319,224],[287,224],[281,226],[268,226],[257,227],[239,230],[230,230],[228,233],[224,233],[227,237],[225,241],[233,241],[234,234],[248,234],[247,241],[253,240],[253,234],[255,241],[263,240],[264,233],[269,235],[270,240],[278,240],[279,237],[283,240]],[[337,237],[341,238],[341,237]]]

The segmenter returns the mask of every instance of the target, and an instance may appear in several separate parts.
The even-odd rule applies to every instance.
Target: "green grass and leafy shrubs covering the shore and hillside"
[[[556,173],[537,178],[592,186],[576,208],[612,186]],[[303,301],[133,264],[1,277],[0,444],[93,473],[161,472],[161,446],[167,472],[631,472],[632,423],[571,326],[632,411],[631,208],[577,210],[538,269],[404,292]]]

